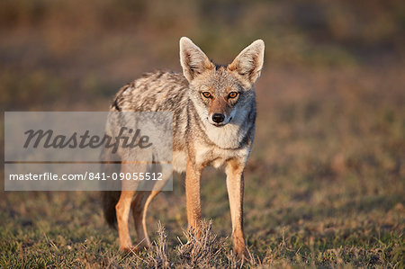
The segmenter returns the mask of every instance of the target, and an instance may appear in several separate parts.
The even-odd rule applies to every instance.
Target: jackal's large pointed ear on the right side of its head
[[[246,77],[253,85],[262,71],[264,57],[265,42],[256,40],[239,53],[237,58],[228,66],[228,69]]]

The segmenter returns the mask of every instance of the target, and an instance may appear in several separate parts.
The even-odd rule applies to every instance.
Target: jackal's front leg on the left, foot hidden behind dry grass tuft
[[[196,229],[197,235],[200,235],[201,229],[200,177],[201,169],[197,169],[193,162],[188,160],[185,172],[188,229]]]

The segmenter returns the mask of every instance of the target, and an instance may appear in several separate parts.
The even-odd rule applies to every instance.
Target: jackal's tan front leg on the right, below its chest
[[[229,196],[230,218],[232,220],[233,248],[239,258],[246,256],[245,237],[243,235],[243,169],[245,164],[238,160],[229,160],[227,188]]]

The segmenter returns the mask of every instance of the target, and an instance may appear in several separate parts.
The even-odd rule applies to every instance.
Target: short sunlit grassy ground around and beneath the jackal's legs
[[[246,172],[245,230],[253,258],[244,265],[405,265],[400,70],[266,70],[257,85],[257,140]],[[182,176],[174,187],[157,196],[148,215],[154,240],[165,238],[157,221],[166,228],[165,254],[160,248],[160,254],[152,249],[139,256],[118,252],[117,231],[103,221],[99,193],[3,192],[0,263],[239,266],[230,255],[224,175],[211,169],[203,175],[202,214],[218,237],[197,260],[179,242],[187,241]],[[162,256],[166,264],[157,263]]]

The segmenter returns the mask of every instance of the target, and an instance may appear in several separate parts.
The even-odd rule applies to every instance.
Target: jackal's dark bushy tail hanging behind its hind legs
[[[109,164],[105,163],[106,161],[110,162],[113,161],[114,163],[117,160],[112,160],[112,154],[109,149],[103,149],[101,154],[101,160],[104,162],[102,163],[102,171],[105,175],[112,175],[112,173],[119,173],[120,165],[119,164]],[[116,182],[108,181],[108,184],[117,184]],[[116,186],[109,186],[110,190],[117,190]],[[104,219],[107,221],[108,225],[112,228],[116,228],[117,223],[117,215],[115,212],[115,205],[120,200],[121,191],[103,191],[103,212],[104,212]]]

